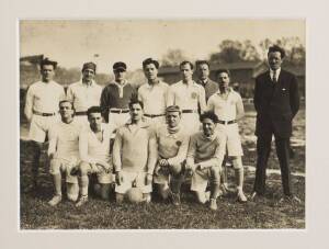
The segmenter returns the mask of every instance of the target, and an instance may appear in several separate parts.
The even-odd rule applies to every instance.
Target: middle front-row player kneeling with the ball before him
[[[116,132],[113,146],[113,165],[116,177],[116,202],[137,186],[143,199],[150,202],[152,173],[157,161],[157,144],[149,124],[143,122],[143,102],[129,102],[131,122]]]

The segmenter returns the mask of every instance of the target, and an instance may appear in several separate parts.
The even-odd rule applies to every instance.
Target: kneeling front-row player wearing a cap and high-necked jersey
[[[158,145],[158,162],[154,182],[162,199],[171,194],[174,205],[180,204],[180,189],[183,181],[183,162],[189,147],[189,135],[180,126],[181,110],[171,105],[166,110],[167,125],[156,132]],[[170,182],[170,189],[169,189]]]

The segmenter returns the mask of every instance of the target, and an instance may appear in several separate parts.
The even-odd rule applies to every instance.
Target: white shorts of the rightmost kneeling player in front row
[[[208,182],[219,183],[219,167],[195,170],[192,176],[191,190],[196,192],[205,192]]]

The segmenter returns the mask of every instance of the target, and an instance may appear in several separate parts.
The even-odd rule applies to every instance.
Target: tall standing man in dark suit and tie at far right
[[[292,191],[290,170],[290,137],[292,121],[299,109],[296,77],[283,69],[285,52],[274,45],[269,48],[270,70],[256,79],[254,109],[257,111],[257,169],[251,199],[265,192],[266,165],[271,151],[272,136],[275,138],[276,155],[281,168],[284,197],[300,202]]]

